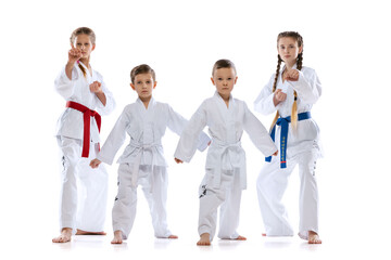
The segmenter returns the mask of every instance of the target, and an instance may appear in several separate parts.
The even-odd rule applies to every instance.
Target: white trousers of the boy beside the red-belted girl
[[[166,238],[172,235],[167,227],[167,170],[166,167],[139,167],[137,186],[131,184],[133,166],[121,164],[118,167],[118,193],[112,211],[113,230],[122,231],[127,239],[136,218],[137,186],[142,186],[147,198],[155,237]]]

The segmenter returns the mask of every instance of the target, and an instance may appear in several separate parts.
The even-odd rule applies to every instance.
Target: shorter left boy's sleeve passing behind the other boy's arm
[[[180,136],[188,123],[188,120],[180,116],[178,113],[176,113],[171,106],[168,106],[168,128]],[[211,139],[209,138],[209,135],[202,131],[198,138],[197,148],[203,152],[207,147],[207,144],[210,142]]]

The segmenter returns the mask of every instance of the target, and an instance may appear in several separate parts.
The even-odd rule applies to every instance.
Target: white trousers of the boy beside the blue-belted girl
[[[242,188],[240,186],[239,170],[223,171],[219,188],[207,183],[213,183],[213,173],[206,170],[206,174],[200,185],[200,212],[199,234],[209,233],[211,240],[216,233],[217,208],[219,210],[219,229],[217,237],[222,239],[236,239],[239,234],[240,199]]]

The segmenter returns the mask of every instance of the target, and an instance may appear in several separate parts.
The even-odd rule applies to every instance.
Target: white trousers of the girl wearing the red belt
[[[89,157],[81,157],[81,140],[58,136],[62,153],[62,188],[60,227],[102,232],[106,214],[108,172],[103,165],[92,169],[89,164],[99,152],[90,143]]]

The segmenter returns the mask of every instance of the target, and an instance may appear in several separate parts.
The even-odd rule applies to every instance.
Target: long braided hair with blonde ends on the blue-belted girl
[[[303,38],[297,31],[283,31],[283,32],[280,32],[278,35],[278,37],[277,37],[277,44],[278,44],[278,41],[281,38],[285,38],[285,37],[290,37],[290,38],[294,39],[298,42],[299,48],[303,47]],[[280,70],[281,62],[282,62],[282,58],[280,57],[279,54],[277,54],[277,58],[278,58],[278,63],[277,63],[277,69],[276,69],[276,77],[275,77],[275,80],[274,80],[274,83],[273,83],[273,92],[276,91],[277,80],[278,80],[279,70]],[[297,58],[297,68],[298,68],[298,70],[301,70],[302,67],[303,67],[303,51],[301,53],[299,53],[298,58]],[[295,130],[297,127],[298,127],[298,102],[297,102],[298,93],[294,91],[293,94],[294,94],[294,101],[293,101],[292,112],[291,112],[291,125],[292,125],[293,130]],[[276,125],[278,118],[279,118],[279,113],[277,112],[276,116],[275,116],[275,118],[273,120],[270,130]]]

